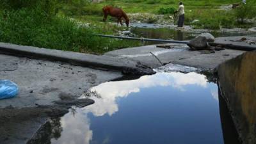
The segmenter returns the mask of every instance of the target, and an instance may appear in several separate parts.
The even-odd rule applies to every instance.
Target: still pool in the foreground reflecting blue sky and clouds
[[[218,86],[202,74],[158,72],[91,91],[95,104],[60,118],[51,143],[224,143]]]

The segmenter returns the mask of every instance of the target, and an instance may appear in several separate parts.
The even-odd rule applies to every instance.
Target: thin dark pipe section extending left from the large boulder
[[[163,42],[163,43],[176,43],[176,44],[188,44],[188,42],[185,41],[179,41],[179,40],[161,40],[161,39],[155,39],[155,38],[136,38],[136,37],[125,37],[125,36],[113,36],[113,35],[96,35],[106,38],[119,38],[119,39],[126,39],[126,40],[140,40],[140,41],[147,41],[147,42]]]

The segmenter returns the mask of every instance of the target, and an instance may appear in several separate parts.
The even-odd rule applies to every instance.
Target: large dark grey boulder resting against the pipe
[[[205,36],[196,36],[193,40],[188,43],[188,46],[192,50],[204,50],[208,47],[208,42]]]

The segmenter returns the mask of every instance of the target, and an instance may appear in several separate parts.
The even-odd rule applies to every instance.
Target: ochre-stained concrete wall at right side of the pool
[[[256,143],[256,51],[223,63],[218,68],[221,94],[227,101],[244,144]]]

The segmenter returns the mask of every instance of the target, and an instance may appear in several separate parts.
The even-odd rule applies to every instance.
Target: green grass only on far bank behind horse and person
[[[248,1],[246,6],[241,6],[235,10],[223,10],[221,6],[227,6],[233,3],[239,3],[238,0],[184,0],[186,7],[186,25],[192,25],[195,28],[220,29],[220,28],[248,28],[253,26],[250,22],[241,22],[242,19],[252,19],[256,15],[256,0]],[[86,21],[101,21],[102,7],[113,5],[120,7],[127,13],[152,13],[152,15],[163,14],[166,20],[168,16],[173,15],[173,10],[178,7],[179,0],[106,0],[100,3],[86,4],[64,4],[61,12],[68,17],[76,17]],[[155,19],[155,20],[154,20]],[[193,22],[198,20],[198,22]],[[152,17],[151,22],[156,22],[157,17]]]

